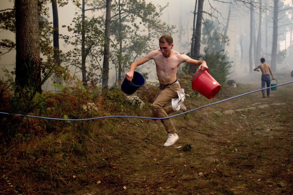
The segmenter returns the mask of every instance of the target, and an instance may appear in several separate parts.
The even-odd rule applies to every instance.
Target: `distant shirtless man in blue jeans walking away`
[[[272,75],[272,79],[275,79],[275,77],[273,76],[273,72],[271,70],[271,67],[269,66],[269,64],[267,64],[265,62],[264,58],[260,59],[260,62],[262,62],[261,65],[259,65],[258,67],[256,67],[255,69],[253,69],[254,71],[259,71],[258,69],[260,69],[262,71],[262,89],[266,87],[270,87],[271,85],[271,80],[269,77],[269,73]],[[269,89],[266,90],[266,95],[267,97],[269,97]],[[265,98],[265,90],[262,90],[262,97]]]

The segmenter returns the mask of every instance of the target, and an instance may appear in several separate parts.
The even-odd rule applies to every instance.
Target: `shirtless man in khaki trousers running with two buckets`
[[[126,79],[131,81],[133,78],[133,72],[137,66],[144,64],[145,62],[153,59],[156,64],[157,77],[160,83],[160,89],[154,98],[152,108],[152,117],[163,118],[168,117],[168,114],[174,112],[172,105],[164,107],[168,104],[172,98],[178,98],[177,90],[180,91],[181,87],[176,80],[176,74],[179,65],[182,62],[197,65],[202,70],[208,69],[205,61],[198,61],[191,59],[187,55],[179,54],[177,51],[173,51],[173,38],[165,34],[159,39],[159,49],[151,51],[143,58],[133,62],[130,65],[129,72],[126,73]],[[176,129],[170,119],[162,119],[161,122],[165,126],[168,133],[168,139],[164,146],[173,145],[178,139]]]

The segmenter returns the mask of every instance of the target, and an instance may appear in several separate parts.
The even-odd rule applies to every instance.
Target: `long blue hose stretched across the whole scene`
[[[282,83],[282,84],[275,85],[275,86],[272,86],[272,87],[278,87],[278,86],[282,86],[282,85],[287,85],[289,83],[293,83],[293,81],[290,81],[290,82],[287,82],[287,83]],[[244,93],[244,94],[240,94],[240,95],[234,96],[232,98],[227,98],[227,99],[224,99],[224,100],[221,100],[221,101],[217,101],[217,102],[214,102],[214,103],[211,103],[211,104],[208,104],[208,105],[204,105],[204,106],[201,106],[201,107],[198,107],[198,108],[195,108],[195,109],[186,111],[186,112],[182,112],[182,113],[179,113],[179,114],[176,114],[176,115],[172,115],[172,116],[168,116],[168,117],[164,117],[164,118],[154,118],[154,117],[144,117],[144,116],[114,115],[114,116],[100,116],[100,117],[89,118],[89,119],[57,119],[57,118],[49,118],[49,117],[42,117],[42,116],[13,114],[13,113],[7,113],[7,112],[0,112],[0,114],[18,115],[18,116],[26,116],[26,117],[32,117],[32,118],[38,118],[38,119],[49,119],[49,120],[60,120],[60,121],[88,121],[88,120],[116,118],[116,117],[117,118],[119,118],[119,117],[136,118],[136,119],[155,119],[155,120],[157,120],[157,119],[170,119],[170,118],[175,117],[175,116],[183,115],[183,114],[186,114],[188,112],[193,112],[193,111],[199,110],[201,108],[205,108],[205,107],[208,107],[208,106],[211,106],[211,105],[219,104],[219,103],[224,102],[224,101],[227,101],[227,100],[231,100],[231,99],[238,98],[238,97],[241,97],[241,96],[244,96],[244,95],[252,94],[252,93],[255,93],[255,92],[258,92],[258,91],[261,91],[261,90],[265,90],[265,89],[269,89],[269,88],[272,88],[272,87],[266,87],[266,88],[263,88],[263,89],[258,89],[258,90],[255,90],[255,91],[250,91],[250,92],[247,92],[247,93]]]

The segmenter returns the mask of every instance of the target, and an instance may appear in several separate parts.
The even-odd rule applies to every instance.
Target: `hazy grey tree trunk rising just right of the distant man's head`
[[[272,71],[276,71],[277,47],[278,47],[278,0],[274,0],[273,44],[272,44],[272,55],[271,55]]]

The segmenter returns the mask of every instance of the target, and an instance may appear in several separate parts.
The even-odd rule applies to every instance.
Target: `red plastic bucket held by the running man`
[[[193,76],[191,82],[192,89],[197,90],[204,97],[211,99],[220,91],[221,85],[208,73],[208,69],[205,69],[197,75],[200,70],[198,69]]]

